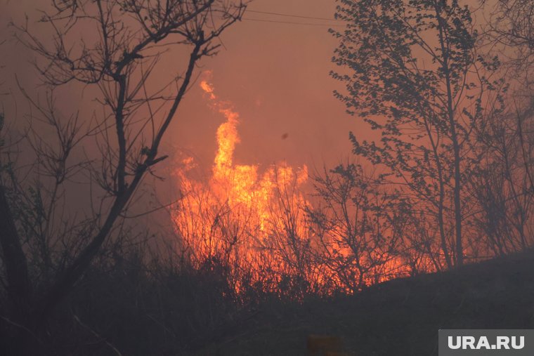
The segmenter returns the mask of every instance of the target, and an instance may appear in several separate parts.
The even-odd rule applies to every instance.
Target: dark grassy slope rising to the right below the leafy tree
[[[200,355],[306,355],[308,334],[349,355],[437,355],[438,329],[533,329],[534,253],[396,279],[330,301],[263,306]]]

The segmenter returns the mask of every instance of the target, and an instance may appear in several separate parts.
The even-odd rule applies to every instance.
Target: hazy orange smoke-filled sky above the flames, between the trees
[[[8,39],[7,22],[37,20],[36,8],[46,0],[2,0],[1,37]],[[339,22],[290,18],[254,13],[265,11],[317,18],[333,18],[334,0],[255,0],[245,19],[223,34],[224,48],[214,58],[205,58],[202,68],[210,70],[216,93],[240,112],[241,143],[236,148],[237,164],[272,164],[285,159],[292,166],[308,164],[332,166],[350,154],[349,131],[364,127],[344,112],[332,91],[339,84],[329,71],[336,40],[327,32]],[[249,20],[247,20],[249,19]],[[253,20],[254,19],[254,20]],[[317,25],[292,25],[268,21],[289,21]],[[31,56],[22,46],[8,41],[3,58],[1,91],[17,91],[14,74],[29,85],[34,80],[27,60]],[[22,60],[25,58],[27,60]],[[88,96],[87,94],[85,94]],[[88,98],[84,98],[86,101]],[[169,135],[168,150],[193,155],[209,169],[216,150],[215,132],[223,117],[209,108],[198,83],[188,93]],[[287,138],[282,135],[287,133]],[[169,152],[172,153],[172,152]]]

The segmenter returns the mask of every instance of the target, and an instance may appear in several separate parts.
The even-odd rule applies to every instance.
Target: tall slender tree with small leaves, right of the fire
[[[471,133],[485,114],[486,93],[500,88],[488,81],[497,60],[479,55],[471,12],[458,1],[340,3],[337,18],[347,25],[331,30],[341,67],[332,77],[346,91],[335,96],[380,135],[376,143],[351,133],[353,151],[387,167],[391,183],[434,214],[446,265],[451,256],[461,265],[462,186],[478,159]]]

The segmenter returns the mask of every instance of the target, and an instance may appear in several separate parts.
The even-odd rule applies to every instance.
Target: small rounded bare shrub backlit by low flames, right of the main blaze
[[[314,185],[320,205],[308,213],[320,241],[318,260],[332,271],[337,289],[356,293],[400,275],[405,214],[393,209],[395,199],[381,191],[380,178],[346,164],[316,176]]]

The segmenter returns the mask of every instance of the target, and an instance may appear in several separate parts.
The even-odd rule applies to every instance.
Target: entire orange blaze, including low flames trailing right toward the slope
[[[173,219],[186,261],[195,268],[220,268],[237,295],[245,284],[247,289],[257,284],[262,292],[299,298],[299,293],[308,291],[333,292],[343,285],[341,278],[357,279],[353,251],[342,242],[347,225],[328,226],[321,236],[313,231],[307,215],[312,206],[302,193],[307,167],[294,169],[283,162],[263,169],[259,164],[235,164],[240,115],[216,95],[209,81],[202,81],[200,87],[225,121],[216,131],[211,176],[204,181],[190,178],[195,168],[191,157],[177,171],[181,199]],[[369,261],[368,271],[389,279],[389,274],[403,271],[402,261],[387,255],[378,249],[358,263],[365,258],[384,261],[375,267]],[[327,265],[325,256],[334,263],[346,261],[349,270],[344,277],[338,274],[339,268]],[[363,278],[366,284],[379,282]]]

